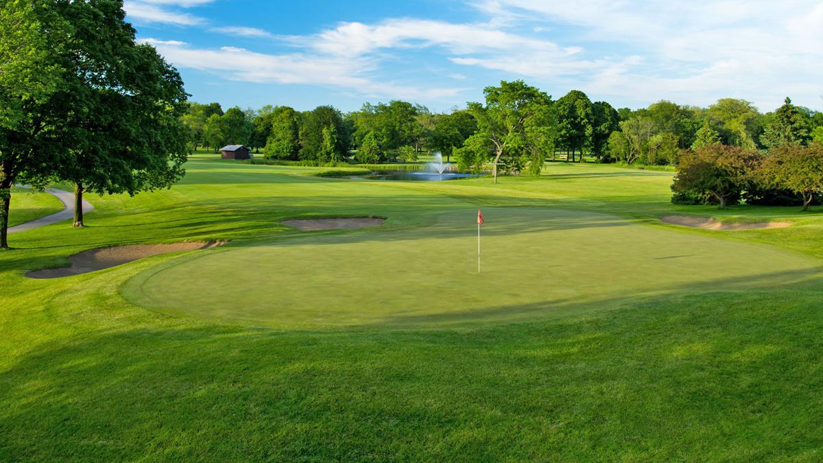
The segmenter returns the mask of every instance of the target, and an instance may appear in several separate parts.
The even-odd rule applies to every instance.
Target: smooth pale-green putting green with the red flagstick
[[[123,286],[142,306],[282,328],[507,322],[666,293],[776,288],[821,261],[771,246],[548,208],[484,209],[406,230],[201,251]]]

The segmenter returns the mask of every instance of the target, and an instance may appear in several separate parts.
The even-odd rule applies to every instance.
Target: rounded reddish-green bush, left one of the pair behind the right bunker
[[[720,143],[682,153],[672,190],[676,194],[711,194],[721,209],[735,203],[745,188],[756,153]]]

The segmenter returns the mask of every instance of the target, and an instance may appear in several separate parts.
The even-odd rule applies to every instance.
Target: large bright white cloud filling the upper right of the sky
[[[667,98],[709,104],[719,97],[755,101],[763,110],[783,97],[818,105],[823,81],[823,4],[815,0],[615,2],[484,0],[481,12],[574,30],[591,52],[625,50],[624,58],[581,76],[578,85],[638,104]],[[642,55],[641,60],[628,59]],[[599,61],[601,58],[595,58]],[[524,63],[478,61],[525,75]]]

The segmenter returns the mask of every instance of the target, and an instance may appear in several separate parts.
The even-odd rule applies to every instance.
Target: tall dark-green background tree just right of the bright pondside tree
[[[592,143],[593,110],[592,101],[582,91],[573,90],[556,101],[558,144],[571,154],[580,152],[583,161],[583,148]]]

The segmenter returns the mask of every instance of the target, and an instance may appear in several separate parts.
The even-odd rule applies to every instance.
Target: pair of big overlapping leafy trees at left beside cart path
[[[184,175],[188,95],[176,69],[135,41],[123,2],[7,0],[0,8],[0,249],[11,187],[137,194]]]

